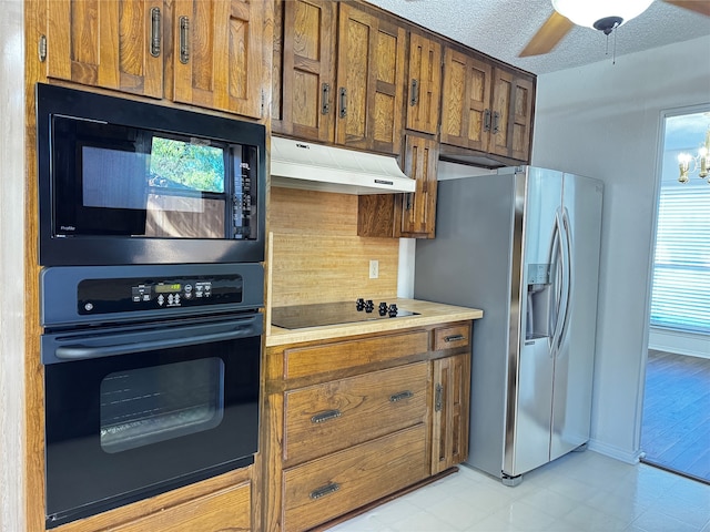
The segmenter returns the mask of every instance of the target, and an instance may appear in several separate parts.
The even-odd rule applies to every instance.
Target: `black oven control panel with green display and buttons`
[[[83,279],[77,286],[79,315],[242,301],[242,276]]]

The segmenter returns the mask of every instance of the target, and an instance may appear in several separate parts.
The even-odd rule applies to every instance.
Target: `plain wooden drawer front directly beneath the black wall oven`
[[[203,532],[252,530],[251,483],[200,497],[193,501],[161,510],[120,526],[112,532]]]

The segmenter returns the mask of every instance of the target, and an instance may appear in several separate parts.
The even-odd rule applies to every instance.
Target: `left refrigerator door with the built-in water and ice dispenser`
[[[527,168],[519,295],[521,327],[515,360],[509,360],[509,389],[504,472],[517,477],[549,461],[554,358],[551,334],[558,324],[561,273],[558,213],[562,173]],[[530,295],[530,297],[528,297]],[[535,305],[529,309],[528,305]],[[546,327],[540,320],[546,318]],[[527,327],[534,327],[532,331]]]

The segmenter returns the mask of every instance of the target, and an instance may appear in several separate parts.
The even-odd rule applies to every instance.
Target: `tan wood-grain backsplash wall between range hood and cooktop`
[[[399,243],[357,236],[357,196],[272,187],[272,306],[365,299],[397,294]],[[378,260],[377,279],[369,260]]]

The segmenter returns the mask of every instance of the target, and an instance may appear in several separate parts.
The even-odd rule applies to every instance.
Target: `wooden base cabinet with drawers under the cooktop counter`
[[[470,330],[460,321],[267,347],[265,530],[308,530],[466,458]]]

